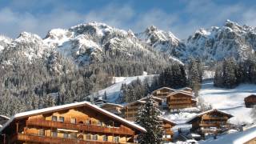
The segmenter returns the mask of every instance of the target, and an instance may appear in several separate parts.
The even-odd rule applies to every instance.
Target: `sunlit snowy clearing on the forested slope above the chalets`
[[[114,100],[118,98],[118,95],[120,94],[120,89],[123,83],[129,84],[137,78],[143,81],[145,78],[153,78],[154,76],[154,74],[147,75],[147,73],[144,72],[142,75],[134,77],[114,77],[114,84],[107,87],[106,89],[99,90],[98,94],[102,96],[106,91],[108,101],[114,102]]]

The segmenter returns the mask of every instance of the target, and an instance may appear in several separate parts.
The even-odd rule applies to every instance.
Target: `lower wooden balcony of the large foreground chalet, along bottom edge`
[[[75,138],[58,138],[58,137],[45,137],[38,135],[30,135],[30,134],[15,134],[11,139],[10,143],[14,142],[42,142],[42,143],[62,143],[62,144],[110,144],[114,142],[104,142],[104,141],[87,141],[83,139],[75,139]],[[120,143],[120,142],[118,142]]]

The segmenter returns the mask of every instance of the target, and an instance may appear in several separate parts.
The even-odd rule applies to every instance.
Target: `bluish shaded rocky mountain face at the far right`
[[[255,32],[254,27],[240,26],[230,20],[222,27],[197,30],[186,41],[186,57],[199,57],[204,62],[216,62],[228,57],[246,59],[256,50]]]

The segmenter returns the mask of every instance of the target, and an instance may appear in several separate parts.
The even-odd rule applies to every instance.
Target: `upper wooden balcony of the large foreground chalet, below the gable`
[[[124,126],[113,128],[113,127],[94,126],[94,125],[86,125],[86,124],[73,124],[73,123],[46,121],[42,119],[27,120],[26,125],[67,129],[67,130],[83,130],[87,132],[96,132],[96,133],[104,133],[104,134],[134,135],[134,131]]]

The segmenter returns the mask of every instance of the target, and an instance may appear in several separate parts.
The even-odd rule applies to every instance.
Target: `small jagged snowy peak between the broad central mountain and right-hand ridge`
[[[143,42],[153,46],[155,50],[177,58],[182,57],[186,50],[185,44],[174,34],[170,31],[158,30],[156,26],[149,26],[144,32],[138,33],[136,36]]]

